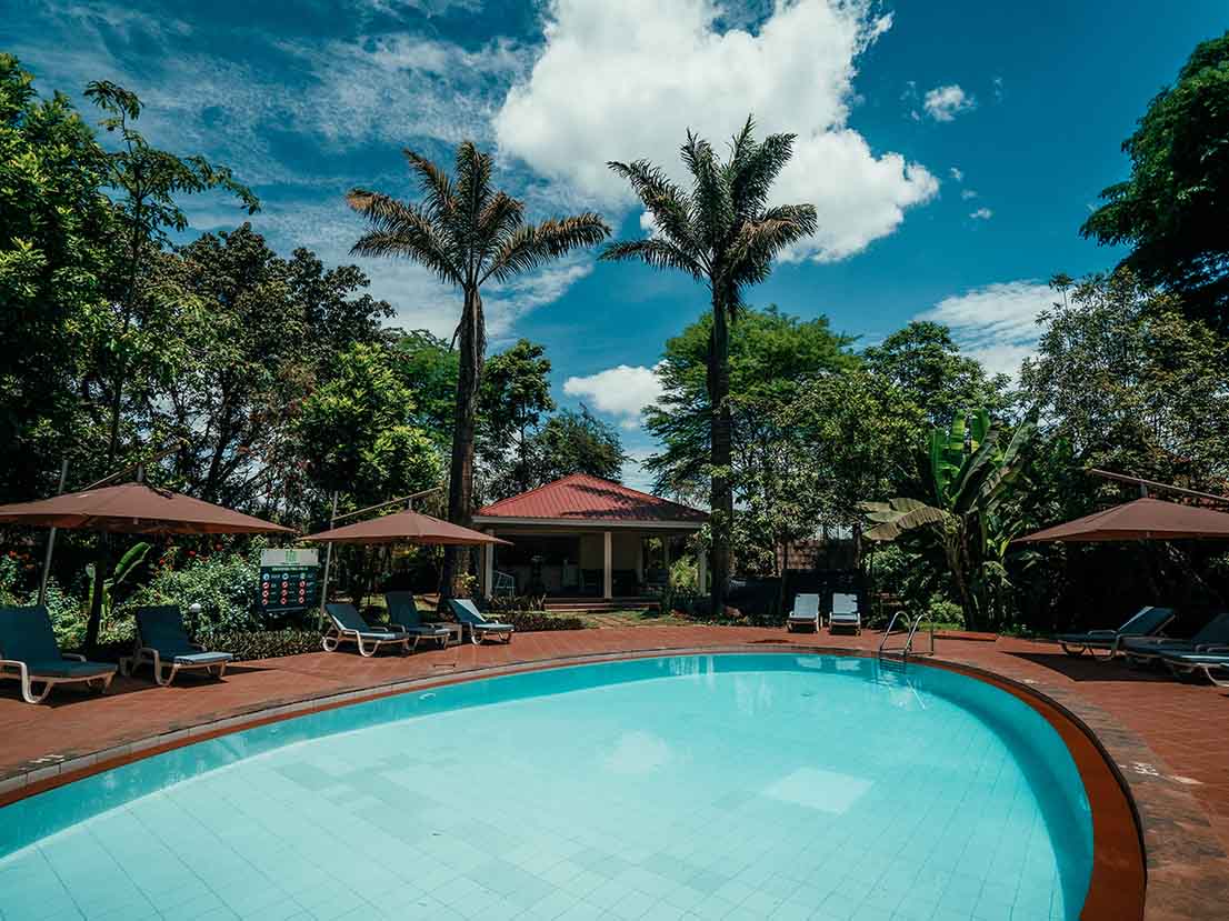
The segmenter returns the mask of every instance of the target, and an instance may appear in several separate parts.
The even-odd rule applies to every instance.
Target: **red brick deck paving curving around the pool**
[[[2,682],[0,804],[61,782],[60,765],[69,761],[80,769],[93,759],[132,759],[251,722],[273,707],[379,694],[415,679],[455,680],[466,672],[659,650],[874,652],[879,639],[870,631],[830,636],[735,626],[522,634],[511,646],[454,646],[407,658],[320,652],[243,662],[221,683],[186,678],[159,688],[117,678],[104,698],[58,689],[39,706],[21,701],[16,682]],[[1229,917],[1229,690],[1072,659],[1051,643],[1023,640],[940,639],[935,658],[1027,685],[1094,732],[1139,810],[1148,919]]]

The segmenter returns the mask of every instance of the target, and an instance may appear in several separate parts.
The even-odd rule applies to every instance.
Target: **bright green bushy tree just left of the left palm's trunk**
[[[375,505],[434,486],[441,475],[430,436],[409,420],[413,394],[398,379],[386,345],[356,343],[339,354],[329,379],[304,400],[297,421],[308,476],[340,507]]]

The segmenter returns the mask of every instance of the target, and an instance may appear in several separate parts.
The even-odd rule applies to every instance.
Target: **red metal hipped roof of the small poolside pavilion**
[[[511,499],[492,502],[478,518],[571,518],[581,521],[708,521],[708,515],[648,492],[622,486],[599,476],[574,473],[562,480],[531,489]]]

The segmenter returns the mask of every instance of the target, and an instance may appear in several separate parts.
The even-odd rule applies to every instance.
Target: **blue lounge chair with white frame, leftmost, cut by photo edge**
[[[109,663],[60,652],[52,615],[42,604],[0,608],[0,678],[18,679],[27,704],[41,704],[57,684],[85,684],[103,694],[116,670]],[[41,694],[34,694],[36,684],[43,685]]]

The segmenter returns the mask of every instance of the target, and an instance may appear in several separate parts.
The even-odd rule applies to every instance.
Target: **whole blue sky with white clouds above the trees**
[[[1120,144],[1193,45],[1229,26],[1223,0],[1029,4],[796,0],[0,0],[0,49],[45,93],[114,80],[156,142],[232,166],[280,251],[350,262],[363,184],[410,195],[399,158],[471,138],[535,217],[596,208],[646,231],[606,160],[677,171],[688,126],[713,140],[748,112],[799,134],[779,200],[821,230],[747,293],[875,341],[914,317],[949,322],[1013,371],[1056,271],[1120,255],[1077,228],[1126,174]],[[194,230],[242,220],[189,201]],[[426,273],[361,262],[399,324],[447,334],[456,297]],[[487,295],[493,345],[547,346],[556,397],[584,400],[651,449],[638,408],[664,341],[705,308],[682,278],[583,254]],[[633,483],[643,483],[629,470]]]

